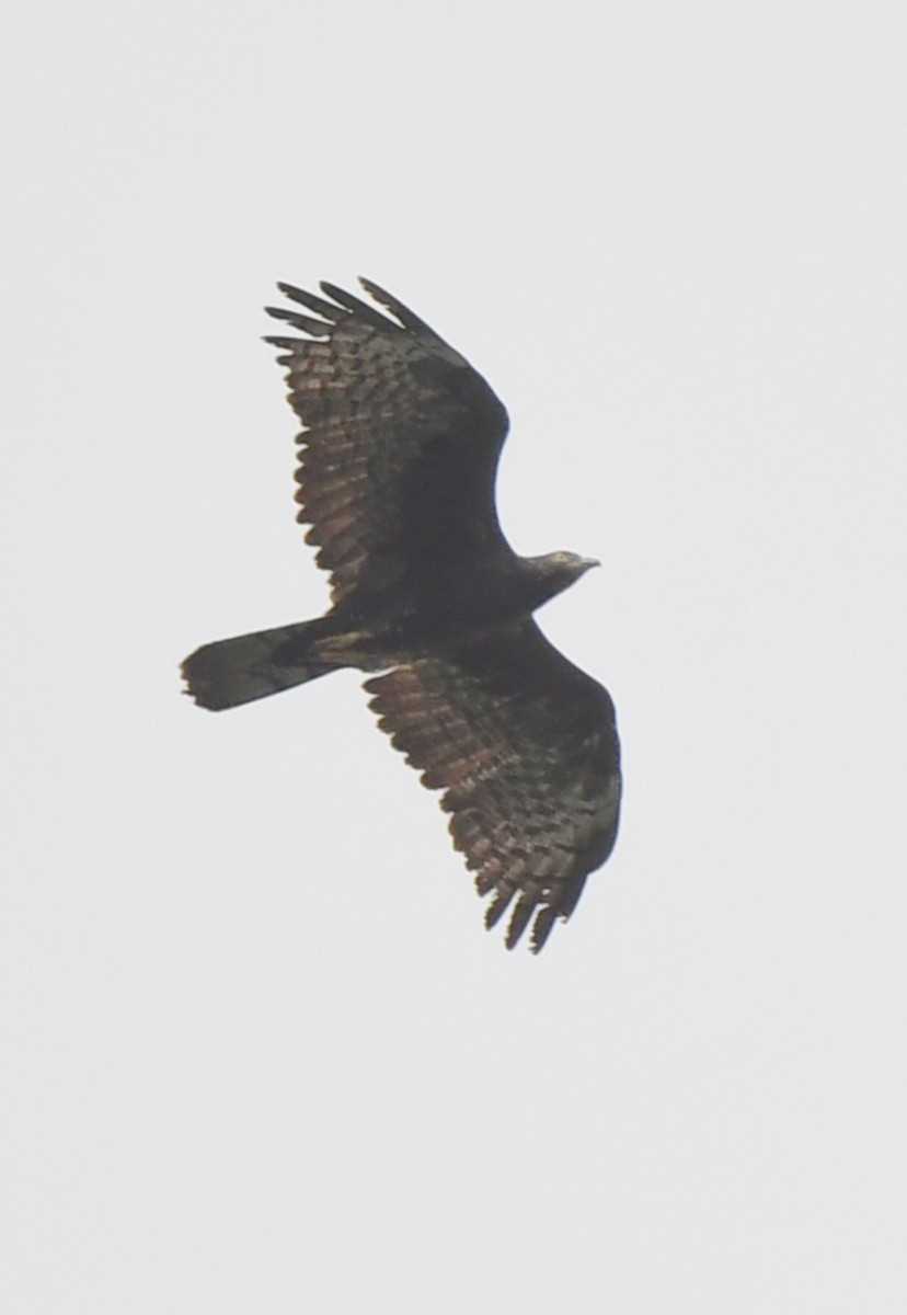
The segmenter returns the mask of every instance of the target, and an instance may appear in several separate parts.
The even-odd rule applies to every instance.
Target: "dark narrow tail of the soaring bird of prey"
[[[187,693],[201,707],[221,711],[326,676],[346,665],[315,652],[318,640],[331,634],[327,618],[319,617],[204,644],[183,663]]]

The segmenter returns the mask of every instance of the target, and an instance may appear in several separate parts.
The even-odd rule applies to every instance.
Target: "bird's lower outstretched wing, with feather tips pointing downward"
[[[373,677],[379,725],[429,789],[443,789],[454,843],[493,894],[515,898],[511,949],[535,914],[532,949],[568,918],[618,828],[620,751],[611,698],[534,621]],[[538,910],[538,913],[536,913]]]

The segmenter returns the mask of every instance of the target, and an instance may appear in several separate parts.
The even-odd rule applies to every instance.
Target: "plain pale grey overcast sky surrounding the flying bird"
[[[12,18],[12,25],[9,24]],[[12,5],[0,1306],[907,1308],[894,4]],[[259,335],[386,285],[511,417],[626,803],[507,953],[319,613]]]

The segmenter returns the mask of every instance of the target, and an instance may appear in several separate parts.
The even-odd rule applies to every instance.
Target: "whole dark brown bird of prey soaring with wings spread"
[[[220,710],[352,667],[379,726],[450,831],[485,924],[531,949],[573,913],[618,828],[620,751],[606,689],[542,634],[532,613],[598,565],[518,556],[494,505],[507,413],[472,366],[396,297],[330,283],[277,287],[268,337],[287,368],[298,435],[297,519],[331,576],[314,621],[205,644],[188,693]],[[296,306],[304,308],[301,313]]]

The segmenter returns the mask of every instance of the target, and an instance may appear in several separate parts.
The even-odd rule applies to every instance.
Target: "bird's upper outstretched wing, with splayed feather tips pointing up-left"
[[[326,297],[279,284],[294,309],[268,308],[305,338],[283,348],[298,438],[298,519],[335,604],[386,610],[436,593],[444,565],[509,552],[494,509],[507,413],[459,352],[389,293],[393,316],[322,283]]]

